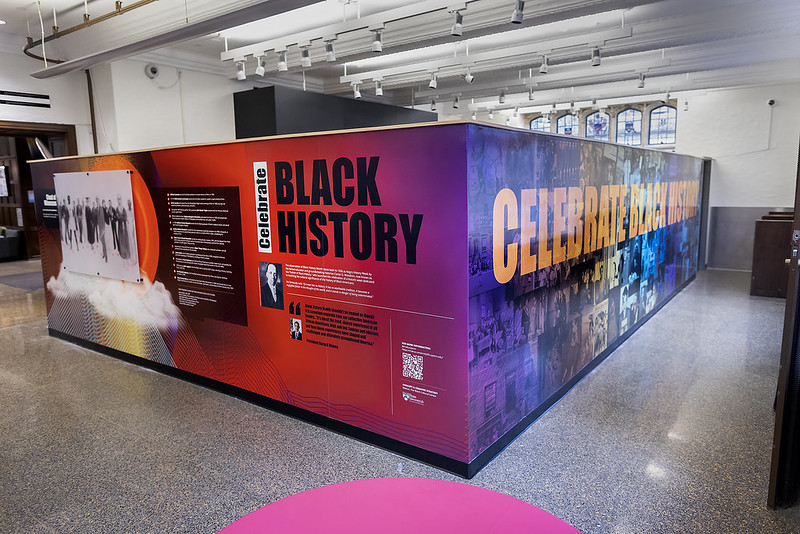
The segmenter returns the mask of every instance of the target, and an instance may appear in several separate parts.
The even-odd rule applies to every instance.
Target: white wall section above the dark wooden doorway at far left
[[[23,45],[24,41],[18,46],[13,41],[0,41],[0,90],[49,95],[50,108],[0,104],[0,120],[75,125],[78,152],[91,154],[94,150],[86,75],[75,72],[37,80],[30,73],[43,65],[25,56]]]

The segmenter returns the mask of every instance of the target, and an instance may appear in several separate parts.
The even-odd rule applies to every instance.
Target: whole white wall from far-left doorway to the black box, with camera
[[[120,152],[235,138],[233,93],[251,86],[224,76],[121,60],[92,67],[98,152]],[[0,90],[50,95],[50,109],[0,104],[0,120],[75,125],[78,153],[92,154],[86,75],[75,72],[37,80],[39,61],[22,46],[0,41]]]

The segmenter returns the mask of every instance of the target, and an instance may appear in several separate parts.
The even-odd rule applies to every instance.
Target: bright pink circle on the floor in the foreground
[[[220,532],[579,533],[544,510],[508,495],[425,478],[356,480],[304,491],[259,508]]]

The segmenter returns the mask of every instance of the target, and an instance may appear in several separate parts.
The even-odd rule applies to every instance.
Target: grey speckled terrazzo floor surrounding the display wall
[[[799,532],[765,505],[784,301],[748,285],[701,273],[470,483],[586,533]],[[50,338],[41,290],[0,286],[0,317],[0,532],[215,532],[336,482],[462,480]]]

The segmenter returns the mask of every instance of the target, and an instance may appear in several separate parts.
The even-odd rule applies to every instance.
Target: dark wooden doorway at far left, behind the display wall
[[[45,152],[53,157],[77,155],[75,126],[0,121],[0,179],[5,175],[6,187],[3,192],[7,192],[7,195],[0,196],[0,226],[23,233],[24,247],[20,249],[19,259],[39,255],[36,210],[32,198],[33,184],[28,161],[42,159]]]

